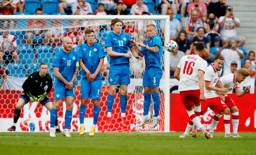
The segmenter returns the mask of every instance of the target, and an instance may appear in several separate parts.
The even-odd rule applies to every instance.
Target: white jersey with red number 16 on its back
[[[177,68],[180,69],[180,84],[178,91],[198,90],[198,71],[205,72],[207,62],[199,55],[184,55]]]

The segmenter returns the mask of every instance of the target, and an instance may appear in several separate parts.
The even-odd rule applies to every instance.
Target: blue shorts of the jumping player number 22
[[[124,63],[110,66],[108,83],[112,85],[129,85],[130,65],[128,63]]]

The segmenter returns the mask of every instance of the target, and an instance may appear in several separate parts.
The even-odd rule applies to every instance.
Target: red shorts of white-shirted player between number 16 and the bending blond
[[[207,108],[210,107],[215,114],[219,114],[222,110],[228,108],[225,102],[220,97],[214,97],[201,101],[201,114],[203,115]]]

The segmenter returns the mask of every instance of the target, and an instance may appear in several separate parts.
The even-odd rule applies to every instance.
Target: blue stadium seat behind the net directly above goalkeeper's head
[[[38,63],[52,63],[53,49],[49,45],[37,45],[35,47],[35,53]]]

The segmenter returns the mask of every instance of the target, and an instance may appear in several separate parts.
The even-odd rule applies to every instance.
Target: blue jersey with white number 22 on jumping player
[[[128,47],[133,45],[129,41],[132,37],[127,33],[121,33],[120,35],[110,32],[105,37],[105,48],[112,47],[112,50],[117,53],[127,53]],[[110,56],[110,66],[114,64],[129,63],[129,58],[125,56],[112,57]]]

